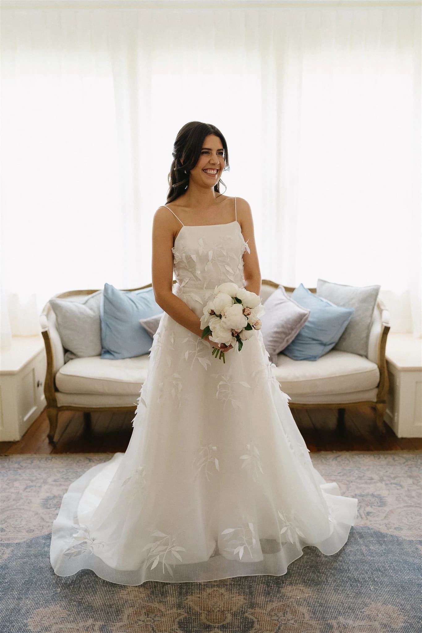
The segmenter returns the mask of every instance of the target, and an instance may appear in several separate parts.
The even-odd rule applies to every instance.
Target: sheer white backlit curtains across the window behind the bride
[[[381,284],[420,336],[420,3],[364,4],[3,2],[3,291],[40,311],[151,282],[173,141],[201,120],[264,279]]]

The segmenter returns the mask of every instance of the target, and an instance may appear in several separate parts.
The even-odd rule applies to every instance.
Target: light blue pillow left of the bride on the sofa
[[[100,306],[101,358],[132,358],[146,354],[152,338],[139,323],[163,312],[154,299],[152,288],[118,290],[104,284]]]

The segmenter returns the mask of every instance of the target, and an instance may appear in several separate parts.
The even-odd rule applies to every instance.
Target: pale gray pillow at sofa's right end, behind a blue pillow
[[[368,356],[369,330],[380,285],[334,284],[318,279],[316,294],[343,308],[354,308],[352,318],[333,349]]]

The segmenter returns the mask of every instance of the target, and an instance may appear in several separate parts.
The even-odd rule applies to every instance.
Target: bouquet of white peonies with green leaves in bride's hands
[[[264,306],[255,292],[239,288],[237,284],[227,282],[215,287],[214,297],[204,306],[201,316],[202,339],[208,334],[210,341],[218,344],[239,346],[250,339],[254,330],[261,329]],[[213,348],[212,354],[218,356],[219,349]],[[224,352],[220,351],[220,359],[226,362]]]

